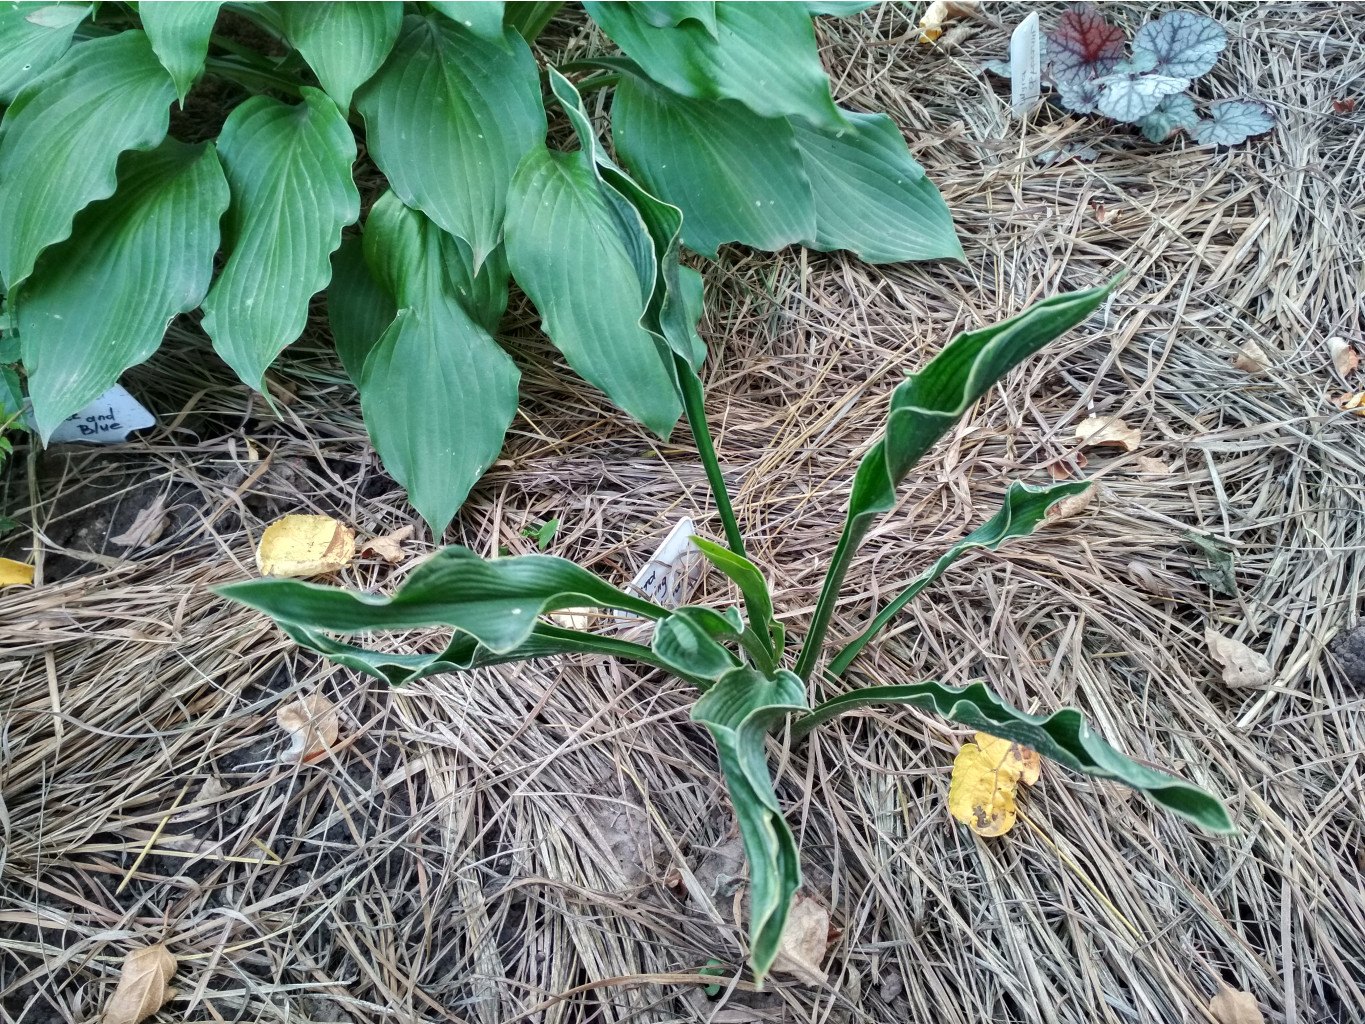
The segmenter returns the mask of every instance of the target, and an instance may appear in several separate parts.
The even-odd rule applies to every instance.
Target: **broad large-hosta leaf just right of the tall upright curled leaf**
[[[816,235],[811,180],[786,119],[627,75],[612,138],[644,187],[682,210],[682,242],[698,253],[714,257],[725,242],[777,250]]]

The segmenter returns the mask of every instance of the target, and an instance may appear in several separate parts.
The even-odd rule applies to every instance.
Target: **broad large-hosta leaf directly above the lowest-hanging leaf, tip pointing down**
[[[482,266],[502,236],[512,175],[545,139],[526,41],[511,29],[490,42],[440,15],[407,18],[356,106],[393,191],[464,239]]]

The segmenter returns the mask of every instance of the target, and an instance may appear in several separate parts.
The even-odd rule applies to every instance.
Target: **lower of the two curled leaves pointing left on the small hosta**
[[[661,665],[648,647],[612,636],[597,636],[576,629],[561,629],[546,623],[536,623],[531,635],[517,647],[504,654],[494,654],[468,634],[456,634],[438,654],[385,654],[356,647],[351,643],[333,640],[330,636],[295,623],[280,623],[296,643],[330,658],[356,672],[382,679],[393,687],[415,683],[426,676],[442,672],[464,672],[486,665],[506,665],[531,658],[547,658],[554,654],[601,654],[614,658],[642,661],[647,665]]]

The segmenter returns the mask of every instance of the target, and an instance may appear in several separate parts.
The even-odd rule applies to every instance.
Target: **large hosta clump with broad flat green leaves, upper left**
[[[516,414],[497,341],[515,279],[579,374],[708,445],[680,244],[961,257],[891,120],[830,96],[811,18],[867,5],[587,4],[624,56],[565,71],[614,90],[632,179],[531,49],[557,3],[5,3],[0,363],[22,362],[46,440],[197,309],[262,389],[326,289],[374,445],[440,534]],[[172,106],[205,82],[247,96],[216,139],[176,141]],[[573,152],[547,147],[546,104]],[[354,179],[377,171],[352,231]]]

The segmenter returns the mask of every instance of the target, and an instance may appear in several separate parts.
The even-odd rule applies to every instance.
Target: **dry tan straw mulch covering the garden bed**
[[[209,584],[253,573],[284,512],[362,534],[415,520],[325,339],[280,367],[293,397],[277,418],[184,325],[128,375],[164,429],[20,456],[5,485],[42,586],[0,599],[4,1020],[90,1020],[127,950],[161,939],[180,990],[164,1020],[1164,1024],[1209,1020],[1219,979],[1269,1021],[1365,1019],[1365,725],[1325,650],[1361,598],[1365,426],[1327,400],[1340,382],[1324,345],[1362,330],[1365,106],[1331,101],[1361,81],[1365,46],[1349,5],[1212,12],[1233,42],[1207,87],[1280,117],[1215,153],[1055,112],[1021,134],[973,71],[1003,52],[999,27],[943,55],[915,45],[909,10],[826,20],[837,94],[894,113],[969,265],[728,251],[707,268],[704,335],[740,516],[801,632],[901,374],[958,329],[1127,268],[1103,315],[927,459],[834,636],[980,523],[1009,478],[1046,481],[1082,416],[1122,416],[1144,446],[1092,457],[1091,511],[960,563],[856,674],[984,677],[1025,709],[1076,705],[1133,756],[1224,795],[1237,836],[1050,767],[1020,826],[980,840],[945,810],[965,733],[850,715],[773,747],[808,893],[834,916],[829,983],[708,999],[687,975],[743,958],[740,867],[685,688],[560,659],[389,692],[214,598]],[[592,45],[575,31],[557,22],[550,40]],[[1067,143],[1100,156],[1035,160]],[[659,445],[613,412],[562,373],[527,307],[508,328],[526,414],[448,541],[524,552],[523,527],[558,516],[553,550],[624,582],[680,515],[718,532],[685,429]],[[1249,341],[1271,369],[1231,367]],[[1136,474],[1140,455],[1171,472]],[[109,543],[156,496],[167,534]],[[1211,586],[1192,534],[1230,552],[1235,593]],[[388,588],[411,565],[362,560],[344,582]],[[1274,684],[1224,687],[1207,627],[1264,650]],[[341,709],[340,745],[283,765],[274,711],[313,692]],[[202,799],[210,778],[228,792]]]

